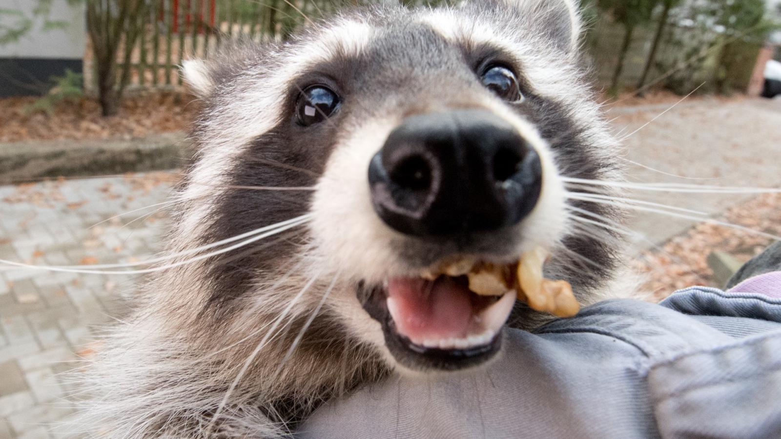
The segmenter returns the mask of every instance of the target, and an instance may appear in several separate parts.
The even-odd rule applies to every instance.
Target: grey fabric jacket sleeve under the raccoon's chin
[[[318,409],[301,438],[781,437],[781,301],[711,288],[615,300],[484,369],[394,376]]]

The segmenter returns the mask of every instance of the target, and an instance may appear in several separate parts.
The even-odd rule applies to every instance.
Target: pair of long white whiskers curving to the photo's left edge
[[[307,214],[307,215],[299,216],[299,217],[294,218],[294,219],[288,219],[287,222],[286,222],[287,224],[284,225],[284,226],[279,226],[279,224],[275,224],[273,227],[276,227],[276,228],[272,228],[272,227],[266,228],[266,230],[269,230],[269,229],[271,229],[271,230],[266,231],[265,233],[258,234],[259,233],[258,230],[252,230],[250,232],[247,232],[247,234],[238,235],[240,237],[231,237],[231,238],[228,238],[226,240],[220,241],[219,244],[224,244],[224,243],[230,242],[230,241],[237,241],[239,239],[242,239],[242,237],[245,237],[246,235],[249,235],[249,236],[251,236],[253,234],[256,235],[256,236],[253,236],[253,237],[251,237],[251,238],[249,238],[249,239],[247,239],[245,241],[241,241],[241,242],[239,242],[237,244],[233,244],[233,245],[231,245],[229,247],[222,248],[222,249],[216,250],[214,252],[209,252],[209,253],[206,253],[204,255],[198,255],[198,256],[196,256],[194,258],[191,258],[191,259],[187,259],[187,260],[179,261],[179,262],[174,262],[174,263],[171,263],[171,264],[168,264],[168,265],[165,265],[165,266],[157,266],[157,267],[153,267],[153,268],[148,268],[148,269],[108,271],[108,270],[101,270],[101,269],[95,269],[95,268],[111,268],[111,267],[118,267],[118,266],[131,266],[131,265],[141,265],[141,264],[154,263],[154,262],[159,262],[159,261],[172,259],[172,258],[177,257],[178,255],[184,255],[184,254],[191,254],[191,253],[194,253],[194,252],[200,252],[200,251],[204,250],[205,248],[211,248],[211,247],[214,247],[214,246],[219,245],[219,244],[218,243],[207,244],[207,245],[202,246],[200,248],[192,248],[190,250],[186,250],[184,252],[180,252],[180,253],[175,254],[175,255],[162,256],[161,258],[150,259],[148,261],[143,261],[143,262],[128,262],[127,264],[103,264],[102,266],[86,266],[86,265],[80,265],[80,266],[36,266],[36,265],[26,264],[26,263],[22,263],[22,262],[13,262],[13,261],[5,260],[5,259],[0,259],[0,264],[7,265],[7,266],[12,266],[12,267],[29,268],[29,269],[45,269],[45,270],[48,270],[48,271],[64,272],[64,273],[85,273],[85,274],[144,274],[144,273],[155,273],[157,271],[162,271],[162,270],[165,270],[165,269],[170,269],[170,268],[173,268],[173,267],[182,266],[182,265],[185,265],[185,264],[188,264],[188,263],[191,263],[191,262],[199,261],[201,259],[211,258],[212,256],[221,255],[223,253],[230,252],[231,250],[234,250],[235,248],[241,248],[241,247],[244,247],[245,245],[251,244],[251,243],[253,243],[255,241],[259,241],[259,240],[261,240],[261,239],[263,239],[265,237],[269,237],[269,236],[273,236],[275,234],[279,234],[279,233],[283,232],[284,230],[288,230],[288,229],[291,229],[293,227],[298,227],[301,224],[306,223],[308,220],[309,220],[309,215]],[[76,268],[74,268],[74,267],[76,267]],[[77,267],[92,267],[92,268],[91,269],[80,269],[80,268],[77,268]],[[5,269],[10,269],[10,267],[5,267]]]

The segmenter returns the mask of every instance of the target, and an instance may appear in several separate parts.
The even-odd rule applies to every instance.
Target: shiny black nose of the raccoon
[[[411,116],[369,164],[374,209],[417,236],[453,236],[515,225],[540,198],[537,152],[485,110]]]

